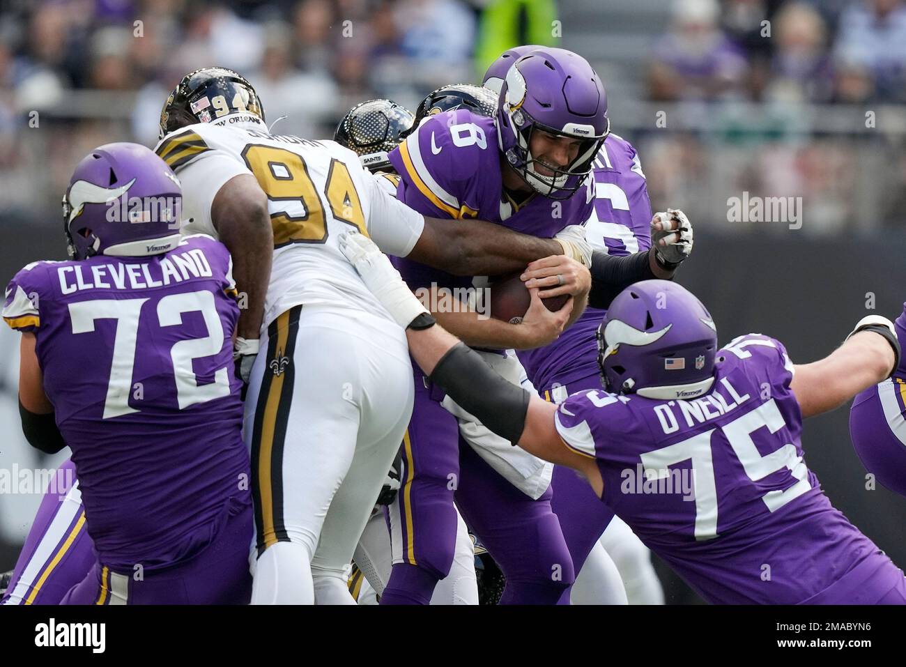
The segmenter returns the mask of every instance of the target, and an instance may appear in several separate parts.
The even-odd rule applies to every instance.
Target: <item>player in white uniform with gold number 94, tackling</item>
[[[545,256],[552,246],[575,252],[579,244],[539,244],[475,220],[426,219],[381,189],[352,151],[270,133],[254,89],[228,70],[189,73],[161,120],[156,151],[187,193],[185,230],[216,233],[218,193],[236,179],[266,202],[273,226],[268,348],[255,360],[246,401],[253,602],[352,604],[345,568],[402,440],[412,387],[396,382],[411,373],[405,341],[373,308],[338,234],[356,228],[393,255],[469,275],[477,266],[515,269],[526,256]],[[544,320],[486,326],[526,340],[558,333]]]

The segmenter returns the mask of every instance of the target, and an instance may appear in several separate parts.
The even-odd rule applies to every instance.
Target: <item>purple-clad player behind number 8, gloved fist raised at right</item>
[[[517,46],[503,53],[487,69],[484,85],[499,93],[512,64],[537,48],[531,45]],[[594,332],[612,295],[619,293],[625,285],[640,280],[671,279],[692,246],[691,225],[679,211],[659,213],[653,218],[656,221],[676,219],[682,229],[678,243],[658,245],[668,232],[657,227],[652,229],[648,187],[638,153],[631,143],[610,132],[595,157],[591,178],[594,208],[585,223],[585,239],[594,251],[590,307],[554,343],[518,353],[528,379],[548,401],[563,401],[570,393],[593,389],[599,385]],[[655,247],[651,247],[652,235]],[[667,243],[667,239],[664,239],[664,243]],[[614,257],[625,257],[622,263],[628,266],[624,272],[626,275],[615,273]],[[525,272],[526,285],[555,289],[555,272],[544,266],[545,260],[536,264],[538,268],[530,267]],[[541,293],[542,296],[547,294],[547,290]],[[612,518],[613,513],[609,507],[602,504],[595,506],[588,502],[591,490],[571,469],[555,466],[551,485],[554,488],[554,498],[551,501],[554,514],[560,519],[566,546],[573,556],[573,569],[579,573],[586,556],[598,544],[602,533],[605,533],[605,528],[620,519]],[[593,514],[589,507],[596,507],[597,514]],[[633,591],[653,592],[652,595],[643,596],[642,599],[636,597],[631,601],[642,604],[660,601],[660,583],[656,578],[651,579],[653,569],[644,546],[638,538],[631,536],[631,531],[614,527],[612,536],[617,534],[621,539],[620,543],[612,543],[614,549],[618,549],[621,554],[641,556],[641,559],[621,559],[622,571],[632,581]],[[634,541],[635,545],[626,546],[627,539]],[[598,567],[598,574],[587,572],[580,583],[595,582],[597,590],[617,591],[619,597],[622,595],[619,586],[607,583],[606,573],[612,571],[607,558],[608,556],[599,554],[589,565],[590,568],[602,565]],[[570,594],[571,590],[567,589],[560,598],[561,603],[568,603]],[[586,594],[584,599],[587,600],[590,596]],[[608,604],[610,601],[601,598],[599,602]]]

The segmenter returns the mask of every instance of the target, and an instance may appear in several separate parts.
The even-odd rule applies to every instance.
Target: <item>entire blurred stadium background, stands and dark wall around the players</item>
[[[585,56],[612,129],[641,155],[654,210],[696,229],[679,281],[721,343],[769,333],[797,362],[863,314],[906,299],[906,5],[901,0],[6,0],[0,3],[0,276],[63,259],[59,202],[94,146],[153,146],[182,74],[232,67],[277,130],[325,138],[352,104],[411,109],[480,80],[516,43]],[[790,221],[738,222],[731,198],[801,198]],[[0,330],[0,473],[49,469],[16,403],[17,334]],[[906,499],[866,488],[848,410],[810,420],[806,462],[834,505],[898,565]],[[178,453],[175,453],[178,455]],[[14,565],[40,495],[0,493],[0,571]],[[669,603],[698,597],[657,564]]]

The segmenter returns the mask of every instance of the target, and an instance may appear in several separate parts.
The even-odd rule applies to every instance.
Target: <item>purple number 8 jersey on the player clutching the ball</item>
[[[581,225],[593,210],[591,179],[571,198],[554,201],[533,194],[521,204],[506,195],[494,119],[458,109],[430,116],[390,151],[400,173],[397,198],[434,218],[481,218],[535,237],[551,238],[567,225]],[[396,261],[411,287],[432,282],[471,285],[405,259]]]

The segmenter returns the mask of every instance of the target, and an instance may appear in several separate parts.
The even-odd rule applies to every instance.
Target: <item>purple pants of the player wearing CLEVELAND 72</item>
[[[95,560],[61,604],[248,604],[248,554],[254,535],[251,498],[229,498],[213,537],[188,560],[150,572],[113,572]]]

